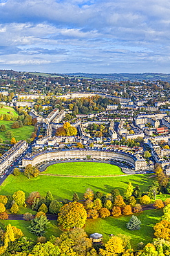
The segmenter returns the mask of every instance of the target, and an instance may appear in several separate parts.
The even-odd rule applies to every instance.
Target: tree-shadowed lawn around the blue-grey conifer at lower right
[[[128,230],[126,223],[129,222],[131,216],[107,217],[105,219],[87,219],[85,231],[87,235],[94,232],[103,234],[103,240],[106,242],[109,239],[109,234],[125,234],[131,237],[131,245],[133,248],[142,241],[147,244],[153,239],[153,226],[160,221],[162,210],[146,210],[138,214],[138,219],[142,221],[140,230]]]

